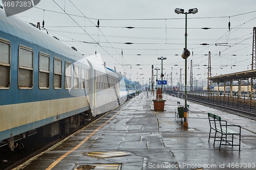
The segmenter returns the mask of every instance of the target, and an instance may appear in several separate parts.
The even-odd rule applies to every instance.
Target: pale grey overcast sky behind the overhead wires
[[[255,7],[255,0],[41,0],[36,8],[16,16],[35,24],[40,22],[41,26],[44,19],[51,36],[75,46],[84,56],[94,55],[96,51],[107,67],[125,72],[133,81],[148,83],[152,65],[161,68],[157,58],[166,57],[163,73],[169,79],[172,72],[176,85],[181,68],[184,81],[181,54],[185,42],[185,15],[176,14],[175,8],[185,11],[198,8],[195,15],[187,15],[187,48],[191,53],[187,59],[189,84],[190,60],[193,61],[193,79],[205,83],[209,52],[212,76],[251,69]],[[99,28],[96,27],[98,19]],[[202,43],[209,45],[200,45]]]

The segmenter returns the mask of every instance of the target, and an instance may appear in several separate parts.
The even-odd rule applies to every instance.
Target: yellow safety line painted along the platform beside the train
[[[137,98],[135,98],[137,99]],[[135,100],[134,99],[134,100]],[[132,100],[131,102],[133,102],[134,100]],[[130,103],[131,103],[130,102]],[[120,111],[122,111],[124,108],[122,108]],[[48,166],[48,168],[46,168],[46,170],[51,170],[56,164],[58,164],[62,159],[66,158],[71,152],[77,150],[84,142],[86,142],[88,139],[90,139],[90,137],[92,137],[96,132],[98,132],[98,130],[100,130],[104,125],[108,124],[110,122],[110,120],[112,120],[114,117],[116,117],[117,114],[120,113],[117,112],[114,116],[112,116],[108,121],[106,121],[104,124],[102,124],[100,127],[98,127],[95,131],[93,131],[89,136],[87,136],[85,139],[83,139],[83,141],[81,141],[79,144],[77,144],[72,150],[66,152],[65,154],[63,154],[62,156],[60,156],[57,160],[55,160],[50,166]]]

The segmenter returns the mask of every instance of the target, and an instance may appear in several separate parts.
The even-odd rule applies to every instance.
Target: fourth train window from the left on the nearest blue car
[[[54,64],[53,88],[61,89],[62,60],[55,57],[53,64]]]

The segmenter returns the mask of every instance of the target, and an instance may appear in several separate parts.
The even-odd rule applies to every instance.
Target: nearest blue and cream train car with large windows
[[[77,113],[89,110],[89,87],[84,84],[90,65],[87,60],[73,64],[82,58],[73,48],[14,16],[6,17],[0,9],[0,141],[8,139],[13,150],[13,136],[44,126],[44,136],[53,136],[59,133],[59,120],[67,117],[63,124],[79,124],[74,121],[80,119]],[[72,87],[78,96],[70,94]]]

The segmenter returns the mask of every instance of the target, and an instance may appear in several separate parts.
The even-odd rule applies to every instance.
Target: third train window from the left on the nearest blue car
[[[39,53],[39,88],[49,88],[50,79],[50,56]]]

